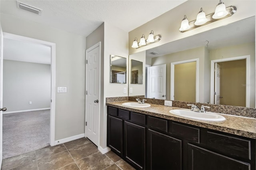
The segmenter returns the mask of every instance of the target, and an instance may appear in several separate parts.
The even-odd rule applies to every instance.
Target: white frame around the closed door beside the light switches
[[[95,49],[95,48],[97,48],[97,47],[100,47],[100,62],[101,62],[101,42],[98,42],[98,43],[96,43],[96,44],[94,44],[94,45],[92,45],[92,47],[90,47],[90,48],[88,48],[88,49],[86,49],[85,50],[85,62],[87,61],[87,59],[88,59],[88,51],[91,51],[92,49]],[[101,63],[100,63],[100,67],[101,67]],[[100,73],[100,71],[101,71],[101,68],[99,67],[99,74],[101,75],[101,73]],[[87,71],[87,69],[88,69],[88,67],[87,67],[87,64],[85,63],[85,116],[84,116],[84,118],[85,118],[85,121],[84,121],[84,136],[85,137],[87,137],[87,133],[86,133],[86,122],[87,122],[87,112],[86,112],[86,107],[87,107],[87,105],[86,105],[86,103],[87,103],[87,95],[86,95],[86,91],[88,90],[87,89],[87,87],[88,87],[88,85],[87,85],[87,83],[88,83],[88,76],[87,76],[87,73],[88,73],[88,71]],[[100,76],[99,76],[99,79],[100,79]],[[100,82],[100,81],[99,81]],[[101,82],[100,82],[101,83]],[[100,103],[101,103],[101,96],[100,96],[100,88],[98,89],[99,90],[99,114],[100,114]],[[99,115],[99,141],[98,141],[98,147],[100,146],[100,115]]]

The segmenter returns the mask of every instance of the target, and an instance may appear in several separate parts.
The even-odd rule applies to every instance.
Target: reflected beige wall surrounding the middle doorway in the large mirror
[[[161,64],[166,64],[166,99],[170,100],[170,77],[171,77],[171,70],[170,70],[170,63],[172,62],[177,62],[177,61],[184,61],[184,60],[188,60],[188,59],[196,59],[199,58],[199,91],[198,91],[198,95],[199,95],[199,99],[198,102],[209,102],[210,97],[209,94],[204,94],[205,91],[210,91],[210,86],[209,86],[209,82],[206,81],[206,79],[204,79],[204,71],[208,71],[210,67],[208,67],[209,65],[204,65],[205,60],[207,60],[204,55],[205,55],[205,48],[204,47],[198,47],[198,48],[194,48],[194,49],[188,49],[185,51],[179,51],[177,53],[171,53],[171,54],[167,54],[167,55],[163,55],[163,56],[159,56],[159,57],[154,57],[152,58],[152,66],[154,65],[161,65]],[[208,83],[208,85],[207,85]],[[205,84],[205,85],[204,85]],[[206,89],[205,91],[202,89]],[[207,97],[208,96],[208,97]],[[207,97],[207,98],[206,98]]]

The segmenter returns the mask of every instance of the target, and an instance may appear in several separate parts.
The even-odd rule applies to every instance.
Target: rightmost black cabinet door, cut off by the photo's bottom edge
[[[250,164],[188,144],[188,170],[250,170]]]

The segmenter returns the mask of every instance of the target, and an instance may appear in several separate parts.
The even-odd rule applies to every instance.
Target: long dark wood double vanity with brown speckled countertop
[[[136,169],[255,170],[256,119],[224,115],[225,121],[187,119],[174,107],[107,103],[107,145]]]

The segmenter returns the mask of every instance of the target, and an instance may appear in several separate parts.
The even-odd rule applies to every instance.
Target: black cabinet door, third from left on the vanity
[[[148,129],[148,168],[150,170],[181,170],[182,141]]]

